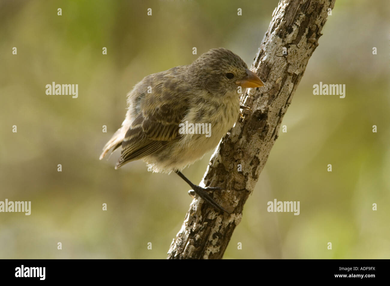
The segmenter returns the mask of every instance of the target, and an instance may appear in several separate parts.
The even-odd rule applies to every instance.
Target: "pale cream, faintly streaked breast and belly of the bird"
[[[146,158],[156,171],[182,170],[215,149],[239,115],[238,94],[198,100],[179,125],[180,139],[163,152]]]

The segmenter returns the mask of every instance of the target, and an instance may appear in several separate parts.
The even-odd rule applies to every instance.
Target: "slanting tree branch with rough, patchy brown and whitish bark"
[[[253,111],[244,110],[244,118],[223,137],[200,184],[223,187],[213,197],[232,213],[219,213],[202,199],[194,199],[170,245],[168,259],[222,258],[334,3],[281,0],[275,8],[251,68],[265,86],[246,91],[243,103]]]

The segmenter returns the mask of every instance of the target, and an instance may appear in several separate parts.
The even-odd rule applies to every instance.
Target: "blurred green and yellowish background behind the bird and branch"
[[[0,2],[0,201],[32,201],[30,216],[0,213],[0,258],[166,258],[188,185],[141,161],[114,170],[101,149],[144,76],[220,46],[250,66],[277,3]],[[388,19],[385,0],[336,1],[224,258],[390,258]],[[320,81],[346,97],[314,96]],[[46,95],[51,82],[78,98]],[[184,174],[200,182],[210,156]],[[300,215],[268,213],[275,198]]]

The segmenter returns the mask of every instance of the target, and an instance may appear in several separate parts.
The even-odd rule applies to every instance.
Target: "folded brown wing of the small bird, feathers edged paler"
[[[152,93],[140,96],[140,112],[126,132],[116,168],[159,152],[180,136],[179,124],[189,108],[188,96],[181,93],[186,91],[164,76],[153,78],[151,86]]]

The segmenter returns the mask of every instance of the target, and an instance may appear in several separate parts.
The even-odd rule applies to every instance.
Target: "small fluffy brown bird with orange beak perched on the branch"
[[[195,185],[182,171],[215,149],[234,126],[240,108],[246,108],[240,105],[239,87],[262,86],[244,60],[225,48],[211,49],[190,65],[145,76],[127,94],[122,126],[103,147],[99,159],[121,148],[115,169],[143,160],[149,171],[175,172],[190,185],[192,197],[197,194],[217,210],[229,213],[209,194],[222,188]],[[191,130],[191,123],[198,123],[201,132]],[[209,127],[208,137],[202,124]]]

